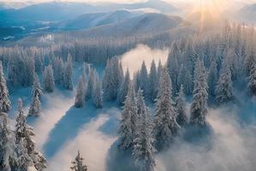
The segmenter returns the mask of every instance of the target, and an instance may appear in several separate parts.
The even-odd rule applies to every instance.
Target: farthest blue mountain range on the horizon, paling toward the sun
[[[149,0],[146,3],[37,3],[21,9],[0,11],[3,21],[67,21],[85,13],[110,12],[118,9],[158,9],[171,13],[177,9],[162,0]]]

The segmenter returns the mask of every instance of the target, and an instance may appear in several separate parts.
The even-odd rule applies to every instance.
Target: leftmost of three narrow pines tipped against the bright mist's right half
[[[145,62],[142,62],[140,68],[140,88],[143,91],[143,96],[147,98],[149,93],[149,82]]]

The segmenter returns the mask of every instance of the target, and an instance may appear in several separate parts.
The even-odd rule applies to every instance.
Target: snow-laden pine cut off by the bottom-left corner
[[[9,128],[9,119],[0,113],[0,170],[11,171],[15,166],[15,140]]]

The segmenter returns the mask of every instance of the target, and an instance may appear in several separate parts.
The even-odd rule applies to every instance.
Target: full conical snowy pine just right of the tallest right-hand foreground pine
[[[223,66],[220,71],[220,76],[216,86],[216,102],[227,103],[233,99],[233,83],[231,80],[231,71],[229,69],[229,63],[223,60]]]

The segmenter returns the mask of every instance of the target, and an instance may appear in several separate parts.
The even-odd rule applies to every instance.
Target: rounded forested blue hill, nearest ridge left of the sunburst
[[[184,21],[178,16],[163,14],[144,14],[129,18],[125,21],[116,22],[101,27],[93,27],[84,31],[74,32],[85,37],[105,37],[105,36],[133,36],[136,34],[157,34],[166,32],[172,28],[182,25]],[[72,32],[71,32],[72,33]]]

